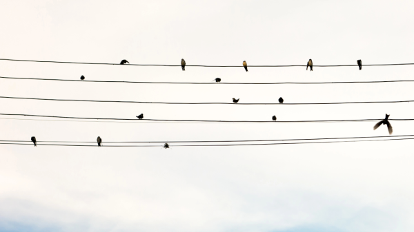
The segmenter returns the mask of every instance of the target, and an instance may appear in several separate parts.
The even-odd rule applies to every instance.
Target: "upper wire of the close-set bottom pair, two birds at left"
[[[414,135],[402,136],[358,136],[358,137],[336,137],[336,138],[288,138],[288,139],[266,139],[266,140],[176,140],[176,141],[105,141],[104,143],[246,143],[246,142],[276,142],[276,141],[299,141],[299,140],[340,140],[340,139],[362,139],[362,138],[396,138],[396,137],[413,137]],[[0,142],[14,143],[32,143],[29,140],[0,140]],[[97,141],[37,141],[37,143],[97,143]]]

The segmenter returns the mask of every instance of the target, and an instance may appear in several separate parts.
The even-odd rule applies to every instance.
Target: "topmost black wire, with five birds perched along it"
[[[0,59],[0,61],[24,61],[24,62],[38,62],[38,63],[72,63],[81,65],[121,65],[119,63],[87,63],[87,62],[70,62],[70,61],[35,61],[35,60],[21,60],[21,59]],[[143,65],[143,64],[128,64],[124,66],[164,66],[164,67],[180,67],[181,65]],[[393,65],[414,65],[414,63],[388,63],[376,65],[362,65],[362,66],[393,66]],[[307,65],[248,65],[248,67],[306,67]],[[351,67],[358,65],[313,65],[313,67]],[[242,65],[186,65],[186,67],[243,67]]]

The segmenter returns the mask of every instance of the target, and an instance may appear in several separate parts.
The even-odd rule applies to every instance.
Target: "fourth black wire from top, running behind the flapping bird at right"
[[[4,114],[6,116],[30,116],[30,117],[42,117],[42,118],[72,118],[72,119],[88,119],[88,120],[133,120],[133,121],[162,121],[162,122],[212,122],[212,123],[344,123],[344,122],[364,122],[364,121],[379,121],[380,119],[344,119],[344,120],[171,120],[171,119],[138,119],[138,118],[86,118],[86,117],[70,117],[70,116],[48,116],[37,114]],[[388,118],[388,120],[407,121],[414,120],[414,118]]]

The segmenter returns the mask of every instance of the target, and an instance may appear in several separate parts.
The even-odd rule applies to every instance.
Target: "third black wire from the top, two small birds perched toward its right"
[[[414,100],[405,101],[352,101],[342,103],[166,103],[153,101],[107,101],[107,100],[81,100],[81,99],[57,99],[57,98],[25,98],[15,96],[0,96],[0,98],[36,100],[36,101],[79,101],[88,103],[139,103],[139,104],[164,104],[164,105],[342,105],[342,104],[367,104],[367,103],[411,103]]]

